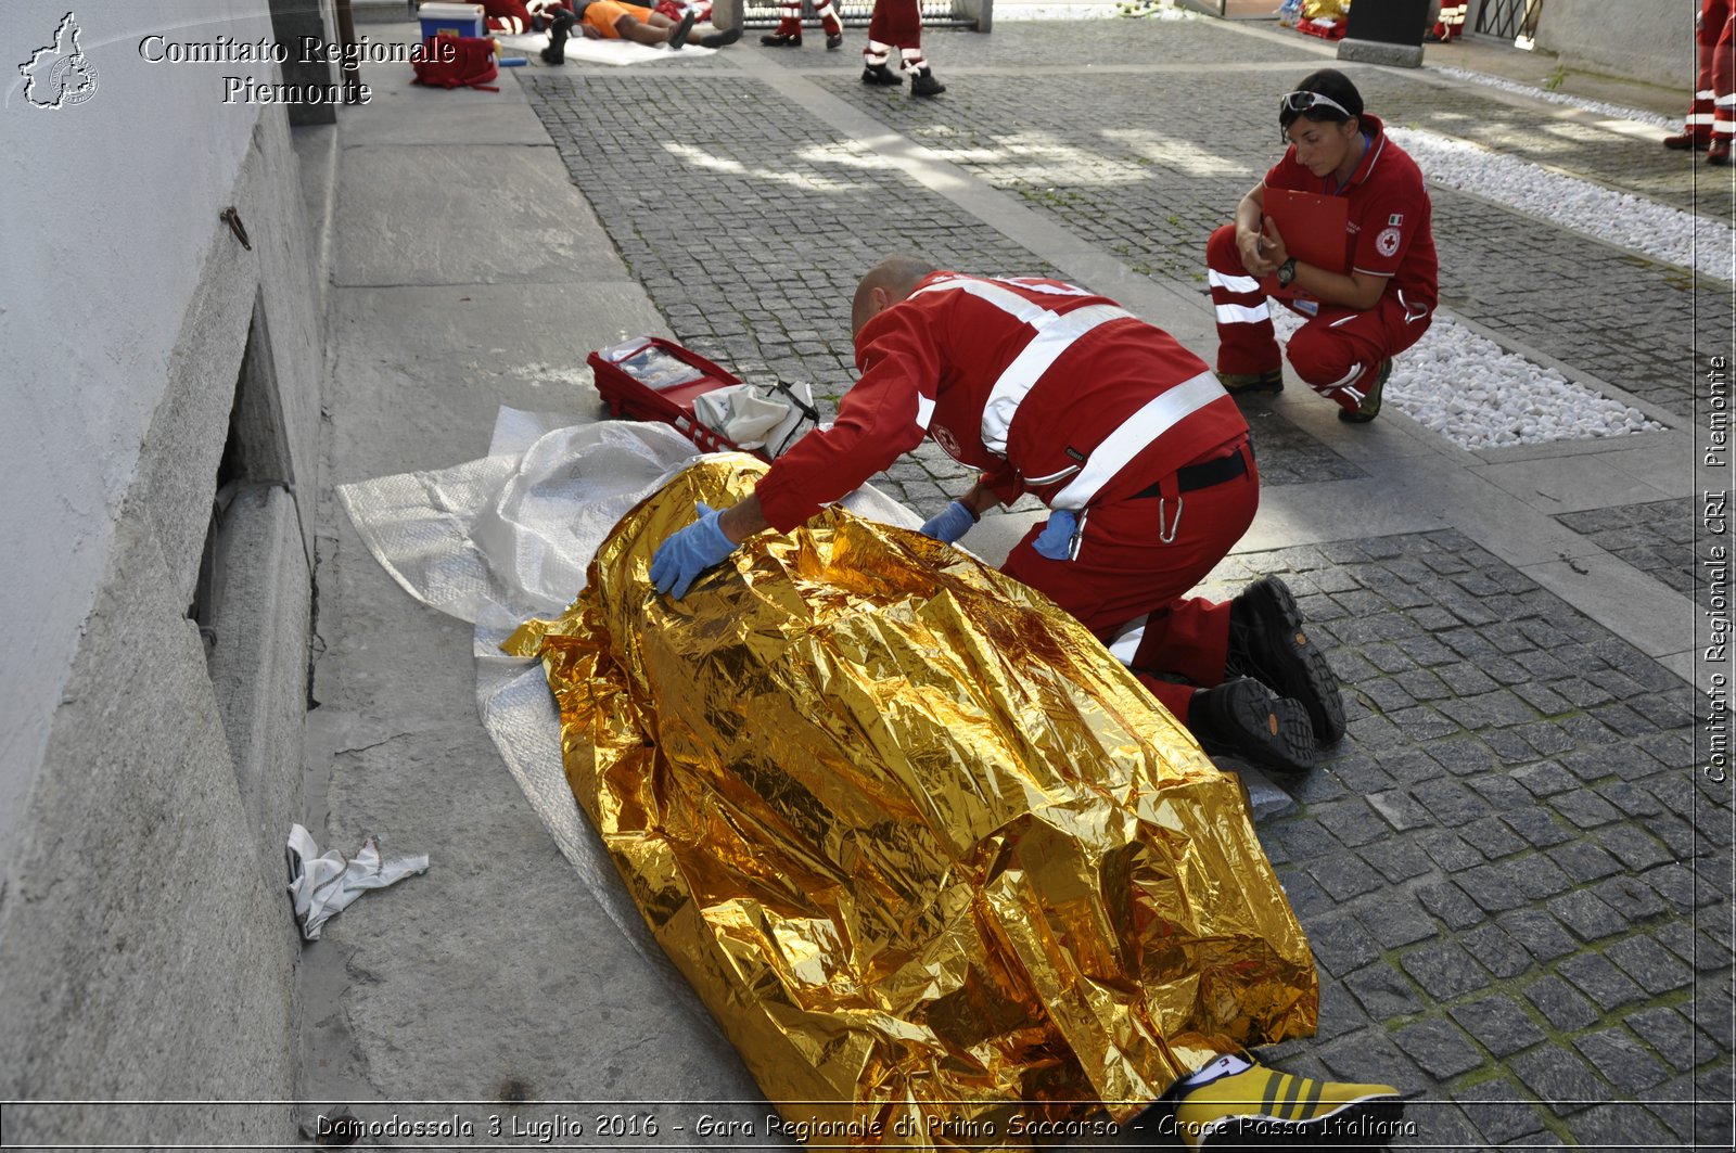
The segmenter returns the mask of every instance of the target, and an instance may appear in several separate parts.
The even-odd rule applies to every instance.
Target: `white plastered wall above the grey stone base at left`
[[[262,109],[224,75],[151,64],[139,42],[271,36],[266,0],[83,0],[95,94],[35,108],[19,64],[68,0],[9,0],[0,75],[0,879],[36,780],[170,349]],[[201,238],[189,245],[187,238]]]

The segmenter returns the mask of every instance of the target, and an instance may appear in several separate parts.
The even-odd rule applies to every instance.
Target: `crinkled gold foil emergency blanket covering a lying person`
[[[1045,597],[842,509],[656,596],[658,542],[764,469],[677,476],[507,649],[543,660],[580,806],[786,1132],[1042,1148],[1311,1033],[1240,781]]]

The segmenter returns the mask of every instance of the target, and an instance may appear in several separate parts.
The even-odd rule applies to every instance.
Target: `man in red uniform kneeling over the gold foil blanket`
[[[684,596],[752,533],[795,528],[932,436],[983,478],[922,531],[958,540],[996,504],[1043,500],[1049,521],[1002,571],[1108,642],[1208,752],[1305,771],[1316,731],[1344,735],[1337,677],[1283,582],[1222,604],[1184,596],[1260,498],[1248,425],[1200,358],[1083,288],[917,257],[870,271],[851,323],[863,375],[837,424],[746,500],[701,505],[653,557],[660,592]]]

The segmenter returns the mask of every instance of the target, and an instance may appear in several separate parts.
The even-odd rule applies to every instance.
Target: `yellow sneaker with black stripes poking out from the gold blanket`
[[[1189,1078],[1174,1125],[1189,1150],[1384,1146],[1403,1113],[1392,1085],[1318,1082],[1219,1057]]]

